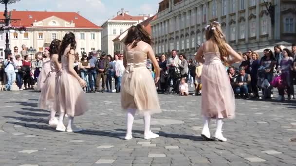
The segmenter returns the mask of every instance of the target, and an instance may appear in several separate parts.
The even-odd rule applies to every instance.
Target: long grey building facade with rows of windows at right
[[[156,54],[178,50],[192,56],[205,41],[205,26],[218,21],[237,51],[258,50],[277,41],[295,42],[296,0],[265,0],[275,11],[272,25],[264,0],[163,0],[151,22]]]

